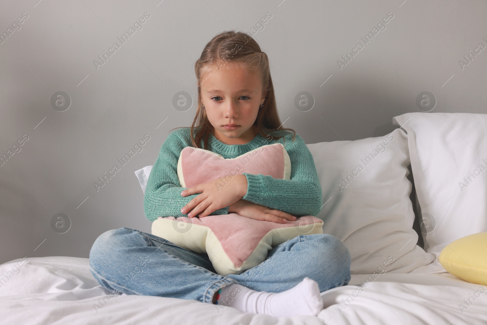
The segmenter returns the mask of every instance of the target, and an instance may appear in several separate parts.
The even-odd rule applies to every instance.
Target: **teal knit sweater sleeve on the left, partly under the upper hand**
[[[181,187],[177,175],[179,154],[189,146],[190,140],[181,138],[178,130],[169,134],[152,166],[144,194],[144,212],[146,218],[154,221],[159,216],[182,217],[181,208],[199,195],[181,196],[188,189]],[[189,212],[189,211],[188,211]],[[228,214],[228,207],[216,210],[210,215]]]

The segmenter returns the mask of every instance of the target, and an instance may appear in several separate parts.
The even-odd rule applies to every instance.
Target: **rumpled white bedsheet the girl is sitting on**
[[[410,273],[352,275],[348,286],[321,293],[325,308],[318,317],[278,319],[176,298],[105,297],[110,291],[94,280],[87,258],[31,257],[15,274],[21,260],[0,265],[0,277],[7,274],[0,281],[1,324],[487,324],[487,287],[456,278],[436,261]]]

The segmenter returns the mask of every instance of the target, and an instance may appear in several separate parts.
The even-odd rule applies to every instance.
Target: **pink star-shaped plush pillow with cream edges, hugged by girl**
[[[291,161],[281,143],[264,145],[232,159],[193,147],[184,148],[179,156],[178,178],[186,188],[224,177],[223,187],[232,175],[244,172],[290,179]],[[323,233],[322,226],[323,221],[311,215],[280,224],[228,213],[201,219],[159,217],[151,231],[180,247],[208,254],[217,273],[227,275],[259,265],[270,249],[288,239]]]

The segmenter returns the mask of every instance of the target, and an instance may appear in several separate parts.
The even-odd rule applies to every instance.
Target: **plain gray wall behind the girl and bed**
[[[0,154],[20,151],[0,166],[0,263],[88,257],[108,229],[150,232],[133,172],[155,162],[170,129],[190,125],[194,105],[178,110],[172,98],[185,91],[196,100],[193,65],[216,34],[255,34],[281,120],[306,143],[356,140],[388,134],[395,115],[430,110],[416,105],[424,91],[436,98],[431,113],[486,113],[487,49],[469,53],[487,46],[486,12],[481,0],[2,1]],[[144,13],[150,18],[96,66]],[[67,110],[52,105],[57,92],[70,97]],[[308,106],[296,107],[300,92],[314,98]],[[142,151],[121,166],[145,134]],[[57,213],[71,220],[64,233],[53,230]]]

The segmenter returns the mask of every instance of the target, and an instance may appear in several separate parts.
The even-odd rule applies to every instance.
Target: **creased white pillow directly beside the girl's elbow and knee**
[[[434,260],[417,246],[403,130],[355,141],[308,144],[323,191],[323,233],[350,250],[352,274],[407,273]],[[348,182],[343,178],[348,177]]]

